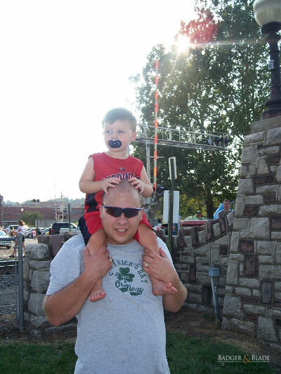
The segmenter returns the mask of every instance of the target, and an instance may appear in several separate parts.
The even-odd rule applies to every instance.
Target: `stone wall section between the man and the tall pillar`
[[[192,309],[214,314],[209,267],[218,267],[218,303],[222,316],[233,218],[234,212],[221,215],[220,220],[209,220],[205,227],[183,229],[174,237],[174,265],[188,289],[185,305]]]

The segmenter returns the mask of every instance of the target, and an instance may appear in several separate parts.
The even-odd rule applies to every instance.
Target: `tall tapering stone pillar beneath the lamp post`
[[[242,149],[223,328],[281,347],[281,116],[251,124]]]

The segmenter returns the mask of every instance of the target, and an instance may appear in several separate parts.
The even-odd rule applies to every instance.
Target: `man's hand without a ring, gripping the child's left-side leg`
[[[107,251],[107,246],[103,243],[96,253],[89,252],[87,247],[83,251],[84,258],[84,272],[91,279],[101,279],[105,276],[112,267],[110,261],[110,253]]]

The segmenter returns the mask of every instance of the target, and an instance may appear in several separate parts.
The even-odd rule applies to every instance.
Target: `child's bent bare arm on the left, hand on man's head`
[[[79,189],[81,192],[95,194],[103,189],[107,194],[108,187],[115,187],[115,185],[119,183],[119,178],[106,178],[104,180],[93,182],[94,178],[95,171],[93,170],[93,159],[90,157],[79,180]]]

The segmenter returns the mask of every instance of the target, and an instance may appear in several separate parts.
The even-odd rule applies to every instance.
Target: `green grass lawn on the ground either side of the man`
[[[268,363],[218,363],[219,354],[244,357],[249,352],[211,338],[187,337],[183,333],[167,332],[166,354],[171,374],[280,373],[280,369],[273,370]],[[73,373],[75,361],[74,345],[70,342],[0,345],[0,373]]]

